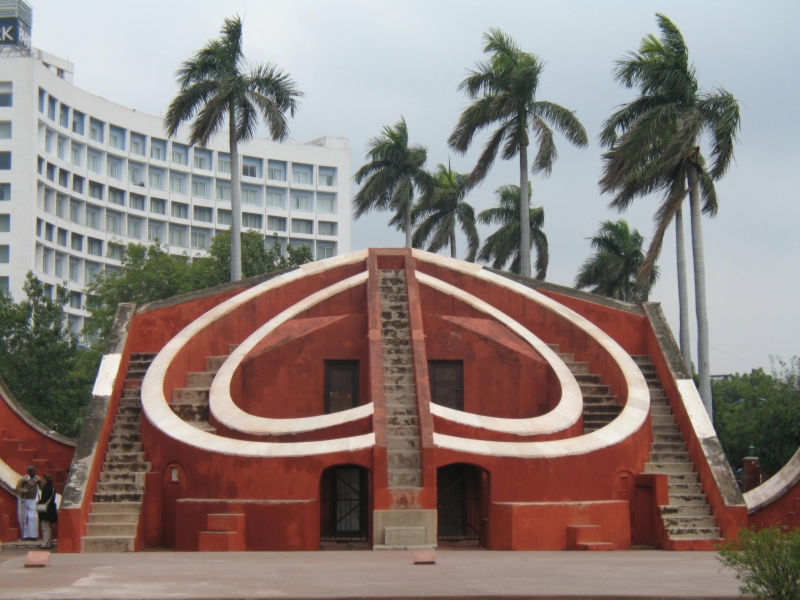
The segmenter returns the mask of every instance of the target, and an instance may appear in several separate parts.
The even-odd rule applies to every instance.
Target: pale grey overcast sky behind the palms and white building
[[[354,171],[367,140],[401,115],[412,141],[428,147],[430,168],[450,159],[469,171],[485,137],[467,156],[448,150],[465,105],[457,86],[482,57],[482,34],[500,27],[547,62],[539,98],[575,110],[589,132],[587,149],[558,140],[552,176],[533,180],[550,242],[547,279],[564,285],[589,254],[586,238],[619,218],[597,186],[601,124],[633,97],[612,81],[613,61],[656,32],[655,13],[663,12],[683,32],[701,86],[724,86],[742,104],[736,163],[717,185],[718,216],[703,223],[711,371],[744,372],[768,367],[771,354],[800,354],[800,2],[29,1],[33,43],[75,62],[76,85],[155,115],[175,92],[180,62],[238,12],[247,56],[277,63],[306,94],[292,137],[349,138]],[[518,177],[517,163],[498,162],[469,201],[488,208],[493,191]],[[656,204],[637,200],[623,215],[648,239]],[[357,221],[353,248],[402,245],[388,219]],[[673,240],[671,229],[651,299],[677,337]]]

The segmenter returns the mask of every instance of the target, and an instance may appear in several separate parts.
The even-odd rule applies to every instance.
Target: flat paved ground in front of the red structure
[[[738,598],[712,552],[54,554],[0,564],[0,599]]]

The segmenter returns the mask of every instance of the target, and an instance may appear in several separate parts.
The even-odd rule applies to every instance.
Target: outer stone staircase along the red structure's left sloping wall
[[[132,354],[108,441],[103,470],[81,538],[82,552],[133,552],[144,496],[145,462],[141,441],[142,380],[155,354]]]

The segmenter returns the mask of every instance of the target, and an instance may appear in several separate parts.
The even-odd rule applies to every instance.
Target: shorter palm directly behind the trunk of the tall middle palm
[[[511,261],[509,271],[520,273],[520,194],[516,185],[501,185],[494,192],[497,197],[497,206],[484,210],[478,215],[478,221],[485,225],[500,225],[500,228],[483,242],[478,253],[480,262],[491,262],[495,269],[502,269]],[[531,247],[536,247],[536,279],[544,281],[547,276],[547,264],[550,255],[547,248],[547,236],[544,227],[544,208],[531,206],[531,190],[528,188],[527,221],[530,223],[528,239],[530,240],[527,254],[530,255]]]

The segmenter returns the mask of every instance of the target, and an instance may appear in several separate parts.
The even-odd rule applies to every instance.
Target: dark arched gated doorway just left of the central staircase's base
[[[320,540],[369,541],[369,471],[334,467],[322,474]]]

